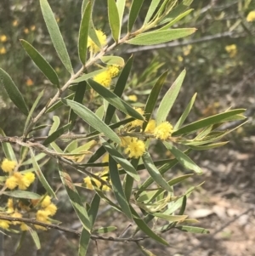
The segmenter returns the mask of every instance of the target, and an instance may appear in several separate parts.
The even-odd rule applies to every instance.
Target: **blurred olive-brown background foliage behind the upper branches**
[[[54,10],[71,62],[77,71],[80,65],[77,54],[77,34],[81,20],[82,0],[48,0],[48,3]],[[126,11],[130,3],[131,1],[127,1]],[[105,0],[96,1],[94,24],[97,29],[110,35],[110,27],[106,21],[106,4]],[[139,20],[137,20],[138,26],[142,25],[143,15],[149,5],[150,1],[144,1]],[[134,55],[132,76],[129,77],[124,100],[133,105],[143,106],[156,77],[163,71],[169,70],[167,83],[161,92],[163,95],[185,68],[187,75],[184,86],[169,121],[174,123],[195,92],[198,93],[195,111],[190,115],[188,122],[216,114],[229,106],[245,107],[247,115],[251,117],[250,122],[244,128],[240,128],[236,134],[229,135],[232,144],[245,150],[246,146],[242,144],[241,137],[248,138],[254,135],[255,125],[252,118],[255,111],[255,21],[246,20],[247,14],[255,10],[255,1],[194,0],[191,8],[194,10],[174,26],[196,27],[197,31],[191,37],[153,47],[123,45],[115,50],[114,54],[122,56],[125,60],[131,54]],[[45,105],[55,88],[48,84],[26,55],[19,42],[21,38],[31,43],[48,60],[57,71],[60,82],[64,83],[68,79],[69,74],[61,65],[49,39],[39,2],[2,0],[0,3],[0,66],[13,78],[30,107],[37,94],[46,88],[44,100],[40,102],[41,105]],[[91,101],[92,109],[97,108],[98,105],[94,104],[96,103],[94,99],[87,100]],[[1,128],[8,136],[20,136],[23,129],[20,123],[24,122],[25,117],[17,115],[18,111],[8,100],[3,88],[0,90],[0,108]],[[51,124],[51,115],[52,113],[44,117],[48,119],[42,119],[41,122]],[[66,120],[67,112],[64,108],[60,108],[57,110],[57,115]],[[83,131],[82,124],[79,125],[79,129]],[[0,156],[3,157],[2,152]],[[199,154],[195,161],[202,161],[203,156],[203,153]],[[65,217],[62,219],[70,220]]]

